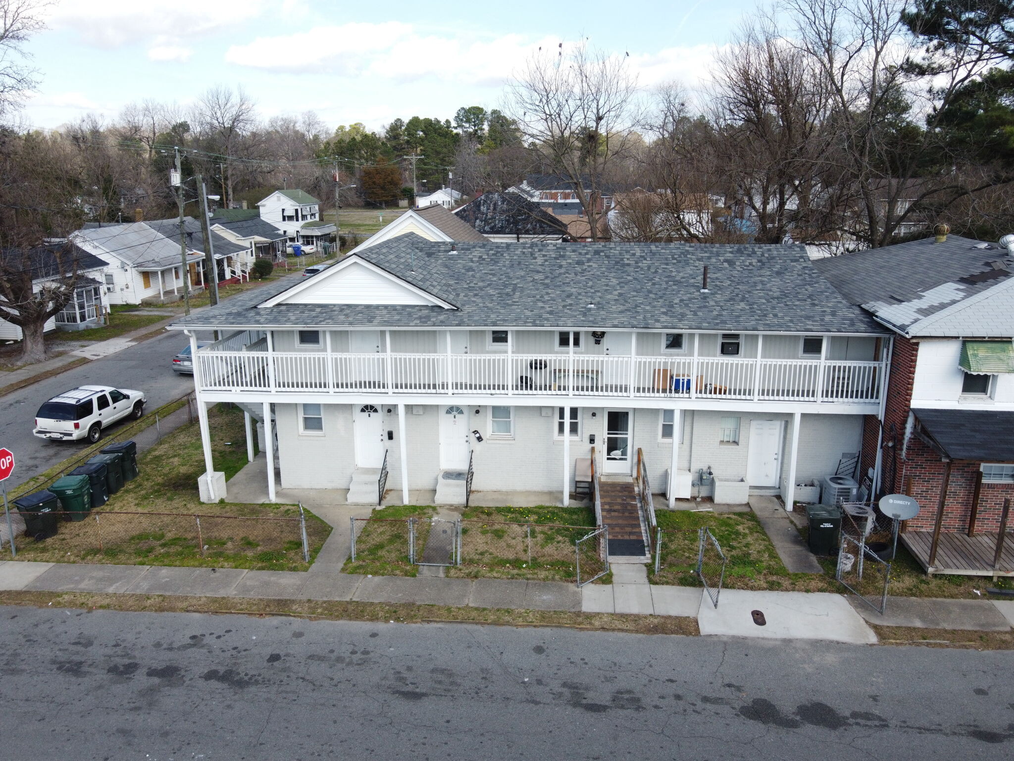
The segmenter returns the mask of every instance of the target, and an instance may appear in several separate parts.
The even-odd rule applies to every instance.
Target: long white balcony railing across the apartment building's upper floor
[[[203,391],[879,401],[881,362],[567,354],[197,355]]]

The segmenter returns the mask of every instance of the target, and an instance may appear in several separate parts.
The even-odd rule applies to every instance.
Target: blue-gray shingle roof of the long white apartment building
[[[356,255],[456,309],[372,304],[257,308],[294,284],[286,279],[174,325],[884,332],[819,276],[802,246],[459,243],[456,248],[451,254],[449,244],[410,233]],[[709,293],[700,292],[705,265]]]

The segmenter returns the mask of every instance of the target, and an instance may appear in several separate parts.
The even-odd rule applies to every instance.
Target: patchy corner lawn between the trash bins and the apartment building
[[[228,479],[246,464],[242,412],[219,406],[210,415],[215,469]],[[18,559],[263,570],[308,567],[298,522],[234,520],[297,517],[296,506],[200,501],[197,479],[204,458],[197,423],[166,435],[139,458],[138,468],[139,477],[110,499],[97,522],[89,517],[63,523],[57,536],[43,542],[22,539]],[[169,514],[117,514],[127,511]],[[214,516],[201,518],[200,534],[196,513]],[[306,531],[312,560],[331,527],[307,512]]]

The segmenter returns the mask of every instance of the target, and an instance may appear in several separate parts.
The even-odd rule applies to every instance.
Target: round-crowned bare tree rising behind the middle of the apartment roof
[[[574,188],[599,237],[605,177],[629,148],[637,81],[626,59],[570,50],[532,55],[507,85],[508,108],[529,149]]]

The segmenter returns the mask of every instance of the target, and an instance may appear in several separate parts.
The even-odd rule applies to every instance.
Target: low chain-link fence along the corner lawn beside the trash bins
[[[18,560],[289,569],[309,562],[302,508],[292,516],[92,510],[11,513],[26,525]],[[32,537],[32,538],[28,538]],[[9,551],[8,545],[8,551]]]

